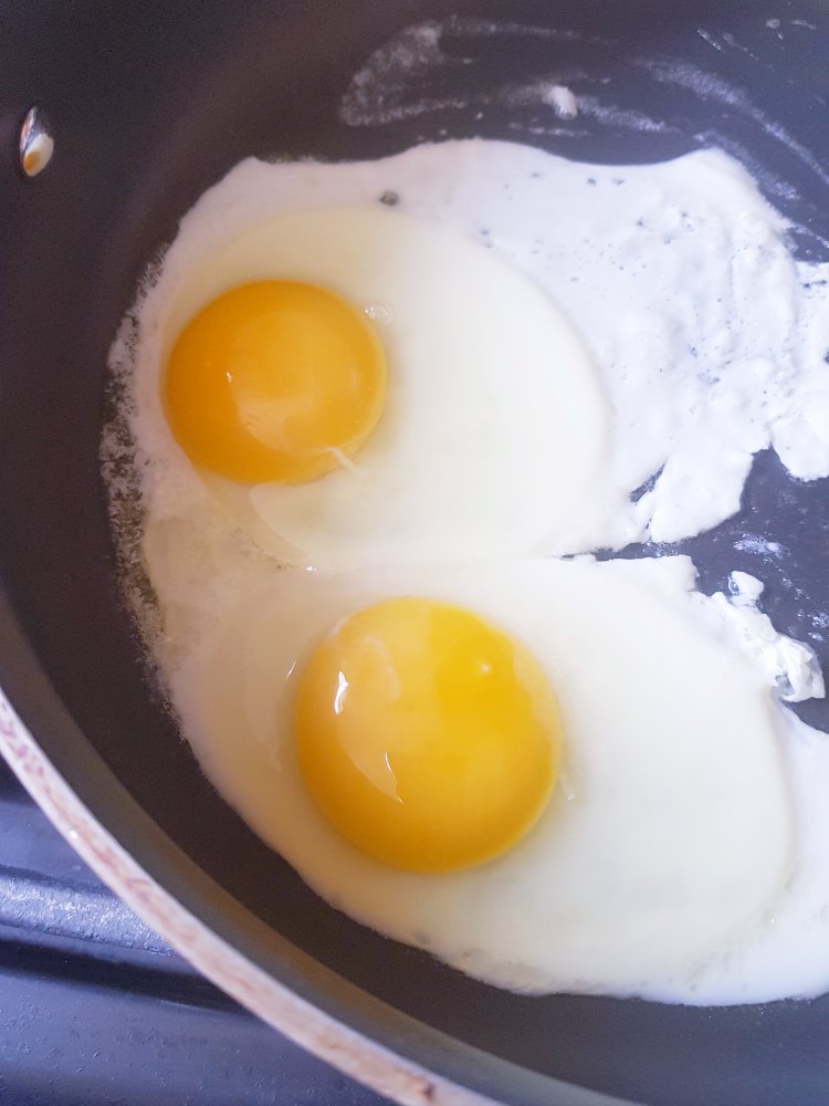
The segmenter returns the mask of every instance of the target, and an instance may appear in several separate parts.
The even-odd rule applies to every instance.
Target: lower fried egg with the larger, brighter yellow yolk
[[[357,920],[517,990],[681,998],[712,951],[738,940],[779,893],[791,862],[789,796],[757,674],[626,568],[516,561],[334,576],[254,571],[230,583],[231,574],[214,630],[168,668],[174,702],[221,793]],[[154,578],[162,602],[180,599],[175,575]],[[416,618],[448,604],[497,627],[531,667],[524,686],[543,681],[555,698],[550,706],[541,692],[537,717],[560,712],[560,730],[554,720],[541,739],[514,731],[517,760],[504,762],[502,750],[501,770],[472,782],[429,757],[407,764],[423,751],[407,745],[409,729],[388,724],[382,686],[401,669],[388,656],[379,675],[365,666],[366,636],[374,650],[389,646],[384,617],[400,633],[399,612],[389,613],[400,603]],[[355,649],[353,623],[366,616]],[[350,655],[342,643],[326,655],[344,629]],[[409,649],[403,699],[407,686],[420,693],[401,708],[407,726],[429,733],[436,703],[424,689],[447,644],[432,630],[429,648]],[[411,645],[411,622],[402,633]],[[454,628],[449,640],[457,644]],[[304,716],[324,710],[333,720],[338,690],[346,710],[348,697],[357,703],[347,757],[343,745],[304,744]],[[507,689],[486,719],[510,707]],[[475,717],[489,740],[491,726]],[[560,733],[557,779],[544,753],[550,732],[554,742]],[[495,818],[495,848],[493,786],[503,807],[518,808]],[[403,815],[411,796],[423,821],[401,834],[396,810]],[[500,855],[457,870],[447,849],[470,826],[481,834],[474,858]]]

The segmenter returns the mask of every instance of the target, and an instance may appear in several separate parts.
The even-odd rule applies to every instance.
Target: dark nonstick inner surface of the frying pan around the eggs
[[[516,25],[493,36],[458,23],[444,49],[470,61],[443,72],[438,91],[483,94],[558,75],[574,87],[595,82],[618,106],[671,125],[586,118],[581,137],[531,137],[533,108],[497,106],[402,113],[369,128],[340,122],[343,92],[369,53],[401,28],[450,12]],[[721,84],[701,96],[631,63],[655,54]],[[826,258],[828,74],[829,11],[819,0],[27,0],[0,10],[0,684],[93,813],[189,909],[336,1018],[507,1102],[574,1102],[552,1077],[660,1106],[823,1106],[829,1001],[691,1009],[522,998],[322,902],[212,791],[148,692],[118,597],[98,471],[107,348],[180,216],[249,154],[365,158],[423,137],[481,134],[632,163],[725,145],[805,227],[793,236],[799,253]],[[743,94],[730,98],[735,87]],[[24,181],[17,132],[33,103],[52,119],[56,153],[42,178]],[[789,480],[763,455],[741,515],[678,546],[693,554],[707,591],[732,568],[756,572],[778,627],[811,640],[825,660],[816,611],[827,598],[827,481]],[[781,552],[769,557],[752,535]],[[821,705],[802,714],[829,729]]]

